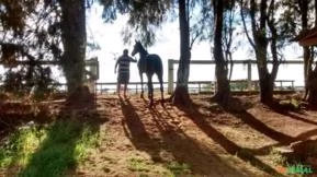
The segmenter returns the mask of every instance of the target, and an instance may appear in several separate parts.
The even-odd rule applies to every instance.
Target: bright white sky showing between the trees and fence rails
[[[134,44],[124,44],[121,36],[122,30],[127,25],[127,16],[118,15],[113,23],[104,23],[101,19],[102,7],[94,3],[87,13],[87,34],[89,40],[94,40],[100,45],[100,50],[89,52],[87,58],[98,57],[100,62],[100,78],[98,82],[115,82],[114,73],[115,60],[122,55],[123,49],[127,48],[129,54]],[[178,21],[166,23],[161,30],[157,31],[157,43],[147,48],[149,54],[157,54],[163,62],[163,80],[168,79],[168,59],[179,59],[179,25]],[[136,38],[137,39],[137,38]],[[132,39],[134,42],[134,39]],[[294,44],[287,48],[285,59],[298,60],[298,45]],[[234,54],[234,59],[252,59],[247,47],[240,46]],[[138,55],[135,56],[138,59]],[[211,45],[207,42],[195,43],[192,48],[191,60],[211,60]],[[190,81],[214,81],[215,66],[200,64],[191,66]],[[174,66],[174,79],[177,78],[178,66]],[[258,80],[256,66],[252,67],[252,80]],[[144,78],[146,78],[144,75]],[[233,80],[247,79],[247,66],[236,64],[234,67]],[[303,67],[302,66],[281,66],[276,80],[295,80],[295,85],[303,85]],[[64,80],[59,80],[64,81]],[[131,81],[139,82],[139,75],[136,63],[131,64]],[[146,79],[145,79],[146,81]],[[157,78],[154,76],[154,81]]]

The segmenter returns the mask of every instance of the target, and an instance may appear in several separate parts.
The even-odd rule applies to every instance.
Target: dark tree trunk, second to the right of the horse
[[[214,1],[215,12],[215,35],[214,35],[214,58],[216,63],[217,91],[215,98],[223,106],[227,107],[230,94],[229,81],[227,79],[228,67],[224,59],[223,52],[223,19],[224,19],[224,2]]]

